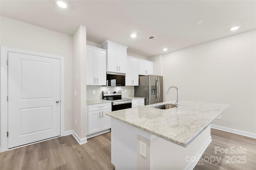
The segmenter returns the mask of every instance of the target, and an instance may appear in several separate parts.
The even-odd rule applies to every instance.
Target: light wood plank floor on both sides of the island
[[[232,133],[211,130],[212,142],[202,155],[194,170],[256,170],[256,140]],[[112,170],[111,134],[106,133],[88,139],[78,145],[72,135],[0,153],[0,170]],[[227,154],[217,152],[215,147],[228,149]],[[246,149],[246,154],[231,154],[230,147]],[[246,163],[227,163],[226,156],[246,156]],[[217,157],[214,162],[208,158]],[[221,157],[221,158],[220,158]],[[242,160],[241,160],[242,162]]]

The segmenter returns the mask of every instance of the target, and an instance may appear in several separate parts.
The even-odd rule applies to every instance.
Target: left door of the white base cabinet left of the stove
[[[100,131],[101,110],[88,112],[88,135]]]

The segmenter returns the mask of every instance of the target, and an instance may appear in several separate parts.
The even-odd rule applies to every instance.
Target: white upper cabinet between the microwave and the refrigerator
[[[127,56],[126,60],[126,75],[125,85],[126,86],[138,86],[139,85],[139,61],[130,56]]]

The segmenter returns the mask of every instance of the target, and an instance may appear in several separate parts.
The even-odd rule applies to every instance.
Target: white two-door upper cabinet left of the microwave
[[[106,50],[86,46],[86,85],[106,86]]]

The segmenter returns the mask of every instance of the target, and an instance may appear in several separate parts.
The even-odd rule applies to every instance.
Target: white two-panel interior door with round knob
[[[60,59],[8,52],[8,148],[60,136]]]

